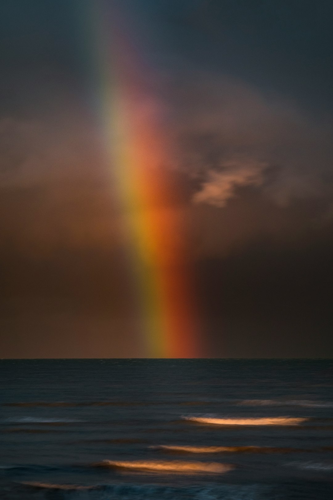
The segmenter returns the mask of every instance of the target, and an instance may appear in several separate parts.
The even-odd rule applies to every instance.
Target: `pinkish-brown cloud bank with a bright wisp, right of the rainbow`
[[[245,185],[260,186],[280,206],[333,197],[327,120],[281,95],[202,71],[182,74],[170,102],[174,163],[196,179],[195,203],[223,207]]]

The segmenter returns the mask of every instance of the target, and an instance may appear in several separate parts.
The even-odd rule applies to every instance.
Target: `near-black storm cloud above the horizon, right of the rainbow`
[[[332,229],[290,244],[258,237],[198,263],[211,352],[332,357]]]

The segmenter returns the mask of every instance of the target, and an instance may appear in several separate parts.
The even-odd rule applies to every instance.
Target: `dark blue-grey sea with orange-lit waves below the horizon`
[[[0,360],[1,500],[332,500],[333,360]]]

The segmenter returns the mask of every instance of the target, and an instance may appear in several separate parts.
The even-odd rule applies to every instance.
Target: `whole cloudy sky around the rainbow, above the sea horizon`
[[[329,0],[0,2],[0,357],[147,355],[104,147],[114,29],[136,117],[164,137],[198,355],[333,356],[332,17]]]

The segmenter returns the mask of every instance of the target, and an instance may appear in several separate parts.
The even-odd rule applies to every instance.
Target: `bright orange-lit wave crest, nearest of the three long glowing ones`
[[[121,468],[128,470],[145,470],[153,472],[176,472],[181,474],[223,473],[234,468],[229,463],[218,462],[185,462],[181,460],[102,460],[93,464],[96,467]]]

